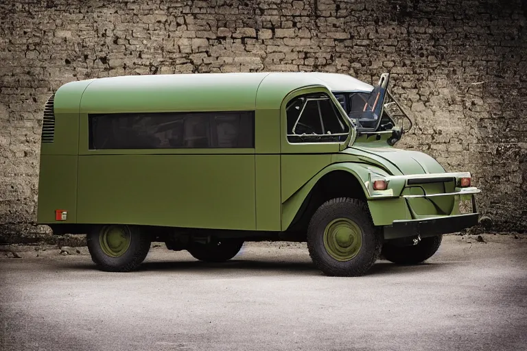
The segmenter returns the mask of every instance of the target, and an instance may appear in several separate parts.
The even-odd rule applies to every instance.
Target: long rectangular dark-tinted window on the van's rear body
[[[89,115],[89,149],[254,148],[255,112]]]

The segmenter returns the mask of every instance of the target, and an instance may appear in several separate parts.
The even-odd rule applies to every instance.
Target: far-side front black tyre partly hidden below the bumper
[[[443,241],[443,235],[423,238],[417,245],[396,246],[384,243],[381,251],[382,257],[399,265],[417,265],[434,256]]]

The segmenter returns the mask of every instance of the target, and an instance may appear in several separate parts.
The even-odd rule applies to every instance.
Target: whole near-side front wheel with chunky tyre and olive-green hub
[[[379,257],[381,238],[364,202],[340,197],[316,210],[307,229],[307,247],[327,276],[362,276]]]

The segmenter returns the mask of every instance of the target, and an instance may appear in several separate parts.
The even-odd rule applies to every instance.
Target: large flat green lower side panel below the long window
[[[79,156],[79,223],[255,230],[254,155]]]

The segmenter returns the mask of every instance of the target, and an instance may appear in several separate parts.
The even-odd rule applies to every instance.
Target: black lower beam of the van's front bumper
[[[425,238],[438,234],[459,232],[462,229],[476,226],[478,219],[478,213],[469,213],[467,215],[393,221],[390,226],[383,226],[384,239],[416,237],[417,235]]]

